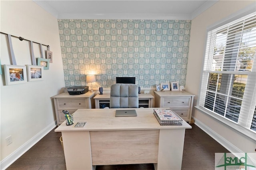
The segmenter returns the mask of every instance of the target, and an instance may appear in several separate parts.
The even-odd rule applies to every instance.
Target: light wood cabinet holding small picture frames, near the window
[[[191,122],[194,95],[188,92],[156,92],[155,107],[170,107],[184,121]]]

